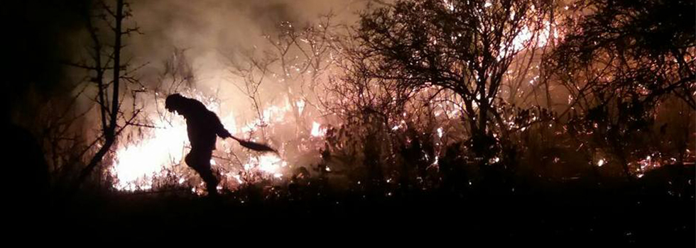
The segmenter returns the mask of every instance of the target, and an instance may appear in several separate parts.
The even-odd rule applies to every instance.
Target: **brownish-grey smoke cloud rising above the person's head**
[[[175,47],[195,69],[196,88],[219,90],[222,98],[241,98],[229,79],[225,56],[252,47],[263,49],[263,34],[272,34],[281,21],[305,26],[321,15],[335,14],[338,23],[357,20],[365,0],[141,0],[131,4],[132,21],[144,35],[127,43],[134,62],[150,62],[141,70],[146,84],[156,83],[156,72]],[[224,108],[248,108],[244,101],[227,101]]]

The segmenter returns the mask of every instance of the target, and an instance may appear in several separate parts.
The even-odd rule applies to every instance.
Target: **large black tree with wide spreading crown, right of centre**
[[[489,157],[491,115],[501,82],[519,51],[543,27],[547,1],[396,1],[364,13],[360,47],[371,77],[400,88],[434,87],[462,98],[473,150]]]

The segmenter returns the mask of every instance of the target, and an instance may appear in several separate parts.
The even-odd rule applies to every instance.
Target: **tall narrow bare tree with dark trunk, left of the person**
[[[97,86],[97,96],[94,101],[99,108],[99,120],[101,123],[99,137],[90,144],[85,152],[98,147],[97,151],[87,162],[87,166],[82,168],[77,177],[74,189],[79,188],[80,184],[92,174],[105,155],[112,149],[116,139],[127,125],[133,123],[139,111],[134,111],[130,117],[124,114],[121,103],[124,101],[124,94],[121,89],[125,89],[125,84],[136,83],[136,79],[131,76],[134,69],[129,70],[129,63],[123,60],[124,35],[139,33],[138,28],[124,28],[124,22],[131,17],[129,4],[124,0],[116,0],[113,6],[109,6],[106,1],[97,1],[93,6],[82,6],[82,13],[85,18],[85,26],[89,33],[92,46],[89,47],[89,62],[72,63],[75,67],[87,69],[92,76],[91,80]],[[102,31],[107,28],[107,33]],[[112,38],[109,43],[106,37]],[[137,69],[137,68],[136,68]],[[111,79],[107,74],[111,72]],[[122,119],[119,121],[119,119]]]

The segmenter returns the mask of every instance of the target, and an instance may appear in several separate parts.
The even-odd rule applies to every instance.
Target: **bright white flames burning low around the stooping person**
[[[202,97],[197,98],[209,110],[215,113],[220,112],[219,106],[214,103],[208,103]],[[289,111],[289,104],[286,104],[286,106],[269,106],[263,110],[263,120],[256,119],[239,129],[237,129],[233,115],[221,116],[221,120],[230,133],[234,134],[239,131],[253,132],[263,123],[283,122],[284,115],[290,113]],[[174,170],[175,166],[183,165],[183,157],[189,150],[187,148],[189,147],[189,141],[185,119],[179,115],[174,115],[170,121],[159,115],[155,115],[154,118],[157,121],[153,125],[158,128],[146,130],[148,133],[139,139],[119,145],[114,154],[114,163],[109,169],[109,173],[116,179],[114,188],[119,191],[150,190],[154,187],[153,182],[156,179],[172,176],[168,171],[175,172],[173,179],[179,185],[184,184],[190,175],[197,176],[197,174],[176,173],[178,170]],[[325,130],[322,129],[322,132],[325,132]],[[229,150],[227,145],[223,146],[225,147],[223,149],[224,152],[232,151]],[[281,178],[283,176],[283,168],[288,165],[287,162],[283,161],[276,154],[249,154],[249,157],[244,159],[246,162],[237,164],[241,168],[233,168],[232,171],[236,172],[230,172],[229,164],[225,164],[223,160],[216,162],[215,158],[211,159],[212,169],[226,169],[227,171],[223,173],[224,176],[221,179],[229,177],[229,179],[234,179],[231,181],[237,184],[245,183],[239,174],[241,171],[259,171],[266,176]],[[200,186],[195,188],[200,188]],[[197,190],[194,190],[194,192],[202,193],[202,191],[199,192]]]

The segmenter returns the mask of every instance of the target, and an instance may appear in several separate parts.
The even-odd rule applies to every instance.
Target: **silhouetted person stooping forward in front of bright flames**
[[[185,162],[205,181],[208,194],[216,196],[218,181],[210,169],[212,150],[215,150],[217,136],[227,138],[232,135],[220,123],[217,115],[205,108],[200,101],[173,94],[167,96],[165,108],[169,112],[176,111],[186,119],[191,152],[186,155]]]

